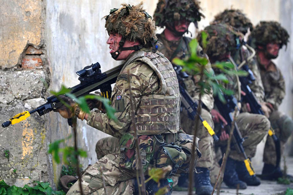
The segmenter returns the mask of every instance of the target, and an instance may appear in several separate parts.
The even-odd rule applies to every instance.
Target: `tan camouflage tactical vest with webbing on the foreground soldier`
[[[140,99],[135,115],[138,135],[177,133],[180,124],[181,98],[172,64],[158,51],[156,53],[137,51],[127,59],[122,70],[137,61],[149,65],[159,79],[157,93]],[[134,124],[131,124],[130,131],[133,130]]]

